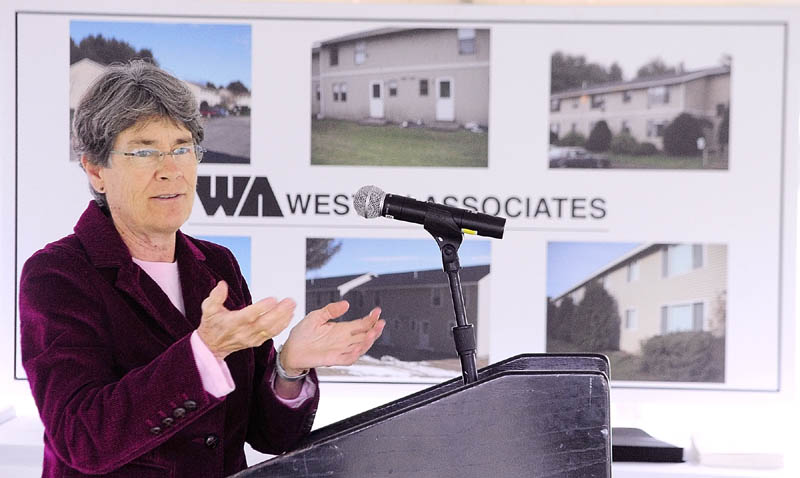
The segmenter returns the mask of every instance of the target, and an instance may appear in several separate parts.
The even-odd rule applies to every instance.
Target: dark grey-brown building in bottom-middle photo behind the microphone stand
[[[467,318],[475,325],[478,356],[488,356],[489,266],[464,267],[460,275]],[[400,360],[457,358],[451,331],[453,302],[441,269],[306,280],[306,313],[340,299],[350,302],[343,320],[381,307],[386,328],[370,355]]]

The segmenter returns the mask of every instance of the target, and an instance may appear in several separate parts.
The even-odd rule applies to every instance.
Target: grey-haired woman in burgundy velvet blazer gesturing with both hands
[[[203,128],[186,86],[112,66],[75,111],[94,200],[22,270],[22,363],[45,427],[43,476],[221,477],[244,443],[281,453],[309,432],[314,367],[352,364],[381,334],[335,302],[276,352],[291,299],[252,302],[233,255],[180,232]],[[281,271],[273,271],[280,274]]]

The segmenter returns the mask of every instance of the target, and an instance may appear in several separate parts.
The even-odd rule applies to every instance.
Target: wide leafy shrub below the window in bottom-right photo
[[[642,343],[642,371],[662,380],[723,382],[725,337],[710,332],[674,332]]]

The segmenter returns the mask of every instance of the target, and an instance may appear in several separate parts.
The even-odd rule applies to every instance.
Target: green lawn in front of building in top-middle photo
[[[362,126],[331,119],[311,122],[314,165],[485,168],[488,157],[486,133]]]

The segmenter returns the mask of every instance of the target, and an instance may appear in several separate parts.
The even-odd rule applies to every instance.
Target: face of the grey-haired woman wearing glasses
[[[161,152],[192,146],[192,134],[169,118],[145,118],[122,131],[113,150],[134,152],[144,149]],[[158,161],[111,153],[109,167],[98,176],[106,201],[117,226],[134,234],[174,234],[192,212],[197,185],[194,154],[161,156]]]

